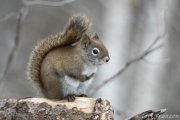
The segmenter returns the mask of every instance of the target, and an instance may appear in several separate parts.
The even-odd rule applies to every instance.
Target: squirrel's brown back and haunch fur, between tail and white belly
[[[80,66],[82,66],[83,61],[76,52],[77,50],[74,47],[61,47],[52,50],[43,60],[41,78],[44,85],[43,93],[47,98],[62,99],[62,86],[58,82],[60,76],[70,73],[81,74],[82,68]],[[56,72],[61,74],[54,75],[57,74]]]

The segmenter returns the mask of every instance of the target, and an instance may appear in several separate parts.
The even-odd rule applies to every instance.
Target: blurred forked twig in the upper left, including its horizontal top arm
[[[47,6],[62,6],[71,2],[74,2],[76,0],[63,0],[63,1],[57,1],[57,2],[52,2],[52,1],[44,1],[44,0],[36,0],[36,1],[28,1],[28,0],[22,0],[23,2],[23,7],[21,8],[20,12],[11,12],[7,15],[5,15],[4,17],[0,18],[0,22],[4,22],[12,17],[16,17],[17,20],[17,26],[16,26],[16,34],[15,34],[15,41],[14,41],[14,46],[11,49],[9,56],[7,58],[7,62],[5,65],[5,68],[3,70],[3,72],[0,74],[0,80],[3,79],[6,74],[7,71],[9,69],[9,66],[11,65],[11,62],[14,58],[16,49],[18,47],[19,44],[19,36],[20,36],[20,28],[21,28],[21,24],[22,21],[26,18],[28,11],[29,11],[29,6],[31,5],[47,5]]]

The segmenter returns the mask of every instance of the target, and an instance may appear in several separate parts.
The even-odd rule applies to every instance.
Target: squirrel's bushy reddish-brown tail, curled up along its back
[[[90,26],[91,23],[86,16],[74,15],[70,18],[69,23],[62,33],[51,35],[38,42],[34,47],[28,62],[28,79],[35,81],[40,88],[43,88],[40,70],[44,57],[54,48],[78,42],[81,39],[82,34],[89,31]]]

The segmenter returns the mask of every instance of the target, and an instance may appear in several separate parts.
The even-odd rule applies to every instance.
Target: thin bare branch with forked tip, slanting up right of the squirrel
[[[154,47],[157,42],[162,39],[165,36],[165,34],[158,36],[154,42],[148,47],[147,50],[145,50],[140,56],[135,57],[134,59],[131,59],[130,61],[128,61],[127,63],[125,63],[123,65],[123,67],[117,72],[115,73],[113,76],[111,76],[110,78],[104,80],[101,84],[95,86],[94,88],[92,88],[92,91],[89,92],[90,95],[93,95],[96,91],[98,91],[99,89],[101,89],[104,85],[106,85],[107,83],[111,82],[112,80],[114,80],[115,78],[119,77],[119,75],[121,75],[122,73],[124,73],[130,65],[135,64],[136,62],[143,60],[146,56],[148,56],[149,54],[155,52],[156,50],[159,50],[160,48],[163,47],[163,44],[160,44],[156,47]]]

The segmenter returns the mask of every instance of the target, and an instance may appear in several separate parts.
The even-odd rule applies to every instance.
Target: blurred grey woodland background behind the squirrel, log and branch
[[[93,95],[112,103],[115,120],[160,108],[176,115],[173,120],[180,119],[179,0],[0,0],[0,98],[35,95],[26,79],[32,47],[62,31],[76,13],[91,18],[111,57],[100,68],[95,85],[163,35],[157,43],[163,48],[129,66]]]

